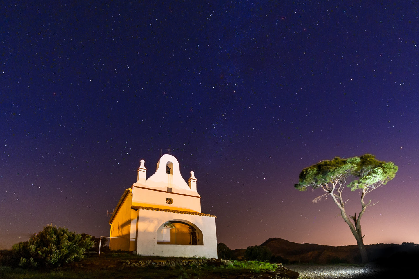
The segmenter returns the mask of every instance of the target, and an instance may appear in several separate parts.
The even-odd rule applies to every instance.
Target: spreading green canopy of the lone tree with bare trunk
[[[327,188],[329,185],[346,183],[352,177],[352,181],[346,185],[352,191],[368,187],[375,189],[393,179],[397,171],[398,167],[393,162],[378,161],[371,154],[348,159],[335,157],[303,169],[294,187],[300,191],[308,187]]]

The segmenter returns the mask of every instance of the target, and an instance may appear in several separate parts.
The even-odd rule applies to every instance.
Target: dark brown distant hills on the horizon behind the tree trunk
[[[281,238],[269,238],[261,246],[268,247],[274,256],[280,256],[288,263],[294,264],[338,264],[359,263],[360,254],[357,245],[329,246],[313,243],[294,243]],[[419,245],[403,244],[370,244],[365,245],[370,261],[401,261],[406,255],[409,260],[417,259]],[[246,249],[233,251],[239,259],[244,257]],[[403,260],[405,261],[405,260]]]

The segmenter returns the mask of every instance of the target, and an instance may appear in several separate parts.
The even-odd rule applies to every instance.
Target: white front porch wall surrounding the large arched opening
[[[157,244],[158,228],[172,220],[188,221],[197,226],[202,232],[203,245]],[[140,210],[137,238],[138,255],[217,258],[215,217]]]

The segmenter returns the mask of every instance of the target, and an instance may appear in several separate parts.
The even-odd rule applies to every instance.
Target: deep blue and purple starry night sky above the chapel
[[[364,243],[419,243],[419,5],[365,2],[3,2],[0,248],[51,223],[109,236],[139,161],[149,177],[168,152],[231,249],[356,245],[293,186],[365,153],[399,171],[367,195]]]

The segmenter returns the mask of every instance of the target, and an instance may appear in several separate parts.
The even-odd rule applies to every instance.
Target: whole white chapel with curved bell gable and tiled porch
[[[146,180],[144,163],[141,160],[137,182],[124,191],[109,220],[111,250],[217,258],[215,216],[201,212],[194,172],[186,183],[178,160],[165,154]]]

